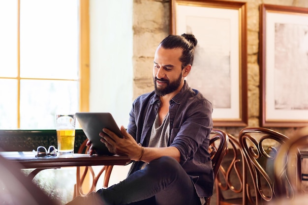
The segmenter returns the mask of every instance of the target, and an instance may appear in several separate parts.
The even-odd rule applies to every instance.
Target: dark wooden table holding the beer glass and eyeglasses
[[[126,165],[130,159],[125,156],[98,156],[89,154],[73,154],[73,156],[35,157],[31,151],[3,151],[0,155],[8,161],[17,162],[21,169],[34,169],[29,177],[45,169],[61,167],[83,167],[96,165]]]

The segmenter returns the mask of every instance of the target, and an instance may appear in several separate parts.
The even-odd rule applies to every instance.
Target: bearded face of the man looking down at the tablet
[[[182,49],[164,49],[160,45],[156,49],[153,67],[154,88],[156,94],[164,96],[182,88],[184,77],[182,72]]]

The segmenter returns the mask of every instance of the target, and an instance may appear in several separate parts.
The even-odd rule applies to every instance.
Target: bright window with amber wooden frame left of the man
[[[0,0],[0,129],[89,109],[89,0]]]

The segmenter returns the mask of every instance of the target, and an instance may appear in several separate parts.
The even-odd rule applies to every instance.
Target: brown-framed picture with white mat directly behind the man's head
[[[188,85],[212,102],[214,126],[246,126],[246,3],[170,2],[170,33],[192,33],[198,40]]]

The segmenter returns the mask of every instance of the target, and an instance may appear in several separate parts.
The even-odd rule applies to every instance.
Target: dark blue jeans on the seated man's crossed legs
[[[106,205],[201,205],[190,177],[166,156],[96,194]]]

